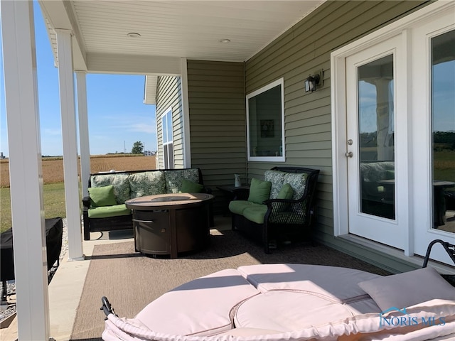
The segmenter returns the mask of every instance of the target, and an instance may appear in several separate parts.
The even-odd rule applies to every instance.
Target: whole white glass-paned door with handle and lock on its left
[[[402,249],[397,219],[398,45],[392,38],[346,59],[349,233]]]

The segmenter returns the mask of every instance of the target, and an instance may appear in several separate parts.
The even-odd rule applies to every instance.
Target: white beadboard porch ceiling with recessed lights
[[[39,3],[54,48],[55,28],[73,31],[76,70],[159,74],[157,67],[151,67],[154,64],[168,74],[173,67],[180,67],[176,58],[248,60],[324,1]],[[129,38],[127,33],[131,32],[141,36]],[[230,39],[230,43],[220,43],[220,39]],[[142,63],[149,65],[142,70]]]

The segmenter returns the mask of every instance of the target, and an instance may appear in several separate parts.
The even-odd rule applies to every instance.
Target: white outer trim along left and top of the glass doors
[[[419,11],[415,11],[405,18],[380,28],[378,31],[370,33],[368,36],[360,38],[342,48],[331,53],[331,112],[332,112],[332,165],[333,165],[333,233],[336,237],[348,237],[348,202],[346,200],[347,188],[347,160],[346,153],[346,63],[348,55],[357,53],[372,45],[376,45],[392,36],[401,35],[402,43],[405,46],[406,54],[410,57],[410,31],[417,22],[435,20],[434,17],[440,16],[446,11],[454,11],[453,1],[437,1],[425,6]],[[409,75],[409,70],[406,70]],[[407,79],[407,78],[406,78]],[[411,92],[411,82],[407,83],[407,92]],[[409,99],[407,99],[408,101]],[[410,112],[405,113],[407,117]],[[408,122],[410,122],[408,120]],[[412,156],[410,156],[412,158]],[[408,181],[412,181],[410,177]],[[407,198],[408,204],[412,202],[412,190]],[[407,231],[407,245],[405,246],[405,256],[413,253],[413,219],[412,210],[409,215],[409,229]],[[358,244],[363,242],[357,241]]]

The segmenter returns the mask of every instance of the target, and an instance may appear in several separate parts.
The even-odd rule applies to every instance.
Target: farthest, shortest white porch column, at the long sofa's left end
[[[90,141],[88,138],[87,116],[87,82],[84,71],[76,71],[77,84],[77,117],[79,119],[80,146],[80,180],[82,181],[82,197],[88,195],[90,178]]]

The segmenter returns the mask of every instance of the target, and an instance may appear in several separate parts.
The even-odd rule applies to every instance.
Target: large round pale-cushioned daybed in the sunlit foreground
[[[133,319],[110,314],[102,338],[455,340],[455,288],[433,269],[425,269],[429,270],[382,277],[333,266],[240,266],[183,284],[149,303]],[[384,278],[390,278],[392,291],[401,292],[400,298],[406,300],[410,295],[411,303],[419,300],[409,293],[412,288],[400,284],[403,279],[427,288],[432,299],[380,308],[380,291],[388,286]],[[379,287],[377,281],[381,281]],[[380,302],[362,287],[375,291]]]

